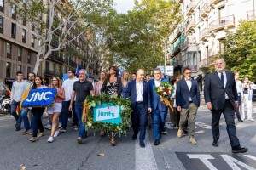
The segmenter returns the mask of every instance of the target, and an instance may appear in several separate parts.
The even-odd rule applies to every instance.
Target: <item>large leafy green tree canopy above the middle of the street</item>
[[[113,14],[109,22],[106,43],[113,54],[113,61],[128,71],[138,68],[152,71],[163,65],[163,40],[182,19],[179,3],[173,0],[143,0],[128,14]],[[148,32],[147,30],[152,30]]]

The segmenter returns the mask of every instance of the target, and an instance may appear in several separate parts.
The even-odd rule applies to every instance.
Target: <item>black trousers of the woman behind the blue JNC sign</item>
[[[38,129],[40,130],[41,133],[44,132],[44,127],[42,123],[42,115],[44,113],[44,107],[35,107],[32,108],[32,114],[35,117],[35,127],[33,129],[33,135],[32,137],[37,137],[38,136]]]

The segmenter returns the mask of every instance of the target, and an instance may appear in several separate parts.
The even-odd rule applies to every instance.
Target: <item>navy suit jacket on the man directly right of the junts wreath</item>
[[[136,80],[128,82],[127,86],[125,97],[131,97],[131,109],[134,110],[137,102]],[[143,105],[148,110],[148,84],[145,81],[143,81]]]

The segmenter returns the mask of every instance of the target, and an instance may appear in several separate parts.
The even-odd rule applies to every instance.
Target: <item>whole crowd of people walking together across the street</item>
[[[220,116],[224,115],[227,124],[227,132],[233,153],[247,152],[247,148],[242,148],[239,139],[236,137],[235,112],[238,121],[245,120],[244,107],[247,106],[247,120],[254,121],[252,116],[252,90],[253,82],[247,77],[244,81],[239,80],[239,73],[225,71],[224,59],[215,61],[215,69],[208,74],[204,83],[204,99],[207,108],[212,112],[212,146],[218,147],[219,121]],[[170,102],[174,110],[170,110],[170,120],[172,127],[177,127],[177,137],[181,138],[189,133],[189,142],[197,144],[195,139],[195,119],[197,110],[201,105],[201,93],[198,82],[191,77],[192,71],[189,67],[183,69],[183,75],[177,75],[173,86],[174,93],[170,96]],[[78,77],[75,71],[67,71],[68,79],[61,84],[59,77],[52,77],[49,86],[44,85],[44,79],[36,76],[33,72],[29,73],[28,79],[24,80],[21,71],[16,74],[17,80],[13,83],[11,90],[11,114],[15,117],[15,129],[20,131],[21,122],[24,122],[22,134],[30,133],[30,141],[35,142],[37,137],[43,137],[44,126],[42,115],[47,112],[49,121],[46,128],[50,129],[49,143],[53,142],[60,133],[67,131],[67,123],[73,117],[73,129],[78,130],[77,142],[83,143],[87,137],[87,132],[82,122],[84,100],[89,95],[108,94],[112,97],[131,99],[131,127],[133,129],[132,140],[137,139],[139,133],[139,144],[145,147],[144,139],[146,127],[153,129],[154,145],[160,144],[162,134],[166,134],[166,116],[168,107],[164,104],[160,96],[156,94],[155,88],[162,82],[168,80],[161,73],[159,68],[155,68],[153,76],[145,74],[142,69],[130,74],[123,71],[119,77],[118,68],[111,66],[108,74],[105,71],[100,73],[99,80],[87,78],[84,69],[79,71]],[[131,79],[130,79],[131,78]],[[56,88],[57,94],[55,103],[48,107],[27,107],[20,109],[20,114],[16,114],[16,107],[20,105],[22,94],[27,89],[34,88]],[[21,107],[20,107],[21,108]],[[28,113],[31,112],[31,121]],[[100,135],[104,136],[103,128]],[[39,130],[39,135],[38,135]],[[115,135],[111,132],[110,143],[116,144]]]

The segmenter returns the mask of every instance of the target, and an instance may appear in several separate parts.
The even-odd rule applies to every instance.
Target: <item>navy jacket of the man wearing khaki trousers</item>
[[[191,79],[191,89],[189,90],[188,84],[186,80],[183,78],[182,80],[177,82],[176,88],[176,105],[181,106],[182,108],[189,107],[189,98],[192,99],[193,103],[200,106],[200,91],[198,87],[198,83],[196,80]]]

